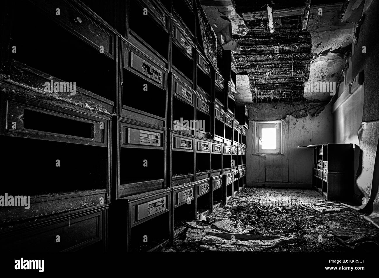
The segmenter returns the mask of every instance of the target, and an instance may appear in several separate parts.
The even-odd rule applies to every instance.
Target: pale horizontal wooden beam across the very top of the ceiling
[[[342,5],[345,2],[338,2],[334,4],[324,4],[324,5],[315,5],[310,8],[310,13],[318,13],[318,9],[323,9],[323,13],[325,12],[335,12],[340,11]],[[304,14],[303,7],[293,7],[287,9],[278,9],[273,11],[274,19],[277,17],[288,17],[288,16],[299,16]],[[247,22],[251,20],[259,20],[259,19],[268,19],[267,11],[256,11],[256,12],[244,12],[242,14],[243,19]]]

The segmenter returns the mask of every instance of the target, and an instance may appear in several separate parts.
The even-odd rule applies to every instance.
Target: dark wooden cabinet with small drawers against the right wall
[[[329,200],[350,201],[354,193],[353,144],[319,144],[308,148],[313,148],[313,187]]]

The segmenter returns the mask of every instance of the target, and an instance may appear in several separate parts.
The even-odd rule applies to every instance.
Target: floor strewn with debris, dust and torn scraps
[[[379,229],[362,213],[313,189],[242,189],[206,219],[187,225],[186,233],[164,252],[349,252],[379,247]]]

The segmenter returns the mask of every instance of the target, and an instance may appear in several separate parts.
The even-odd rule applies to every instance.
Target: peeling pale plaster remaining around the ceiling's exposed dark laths
[[[312,9],[311,2],[311,14],[307,25],[307,31],[309,31],[312,39],[312,59],[310,61],[308,82],[322,81],[338,83],[341,72],[346,65],[346,52],[351,51],[351,45],[354,43],[357,22],[361,18],[362,12],[366,11],[367,6],[369,6],[372,1],[373,0],[350,0],[348,5],[345,5],[347,6],[346,11],[343,11],[344,2],[342,0],[340,3],[334,3],[334,6],[330,5],[330,7],[327,6],[328,4],[325,4],[322,15],[318,13],[318,8]],[[200,3],[207,5],[209,7],[207,7],[208,10],[213,10],[213,16],[218,16],[224,21],[230,20],[233,34],[244,36],[247,33],[246,22],[241,24],[243,17],[235,12],[236,9],[238,11],[238,6],[236,6],[236,3],[238,5],[238,1],[202,0]],[[261,7],[254,7],[252,10],[256,11],[260,8]],[[341,14],[341,10],[343,14]],[[244,10],[244,15],[245,12],[248,11]],[[275,6],[273,7],[273,12],[275,17]],[[340,17],[342,17],[342,20]],[[225,30],[225,28],[223,30]],[[238,84],[236,85],[238,87]],[[247,93],[245,89],[241,86],[240,94],[237,92],[237,96],[239,96],[240,99],[236,98],[236,102],[248,103],[246,98],[248,95],[244,95]],[[305,86],[304,98],[308,100],[327,101],[331,96],[330,93],[310,92],[309,87]]]

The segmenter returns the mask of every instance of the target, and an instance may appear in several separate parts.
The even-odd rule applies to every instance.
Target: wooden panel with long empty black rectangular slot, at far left
[[[72,112],[25,99],[7,100],[6,124],[0,134],[52,141],[105,146],[108,132],[105,119]],[[68,128],[70,127],[70,128]]]

